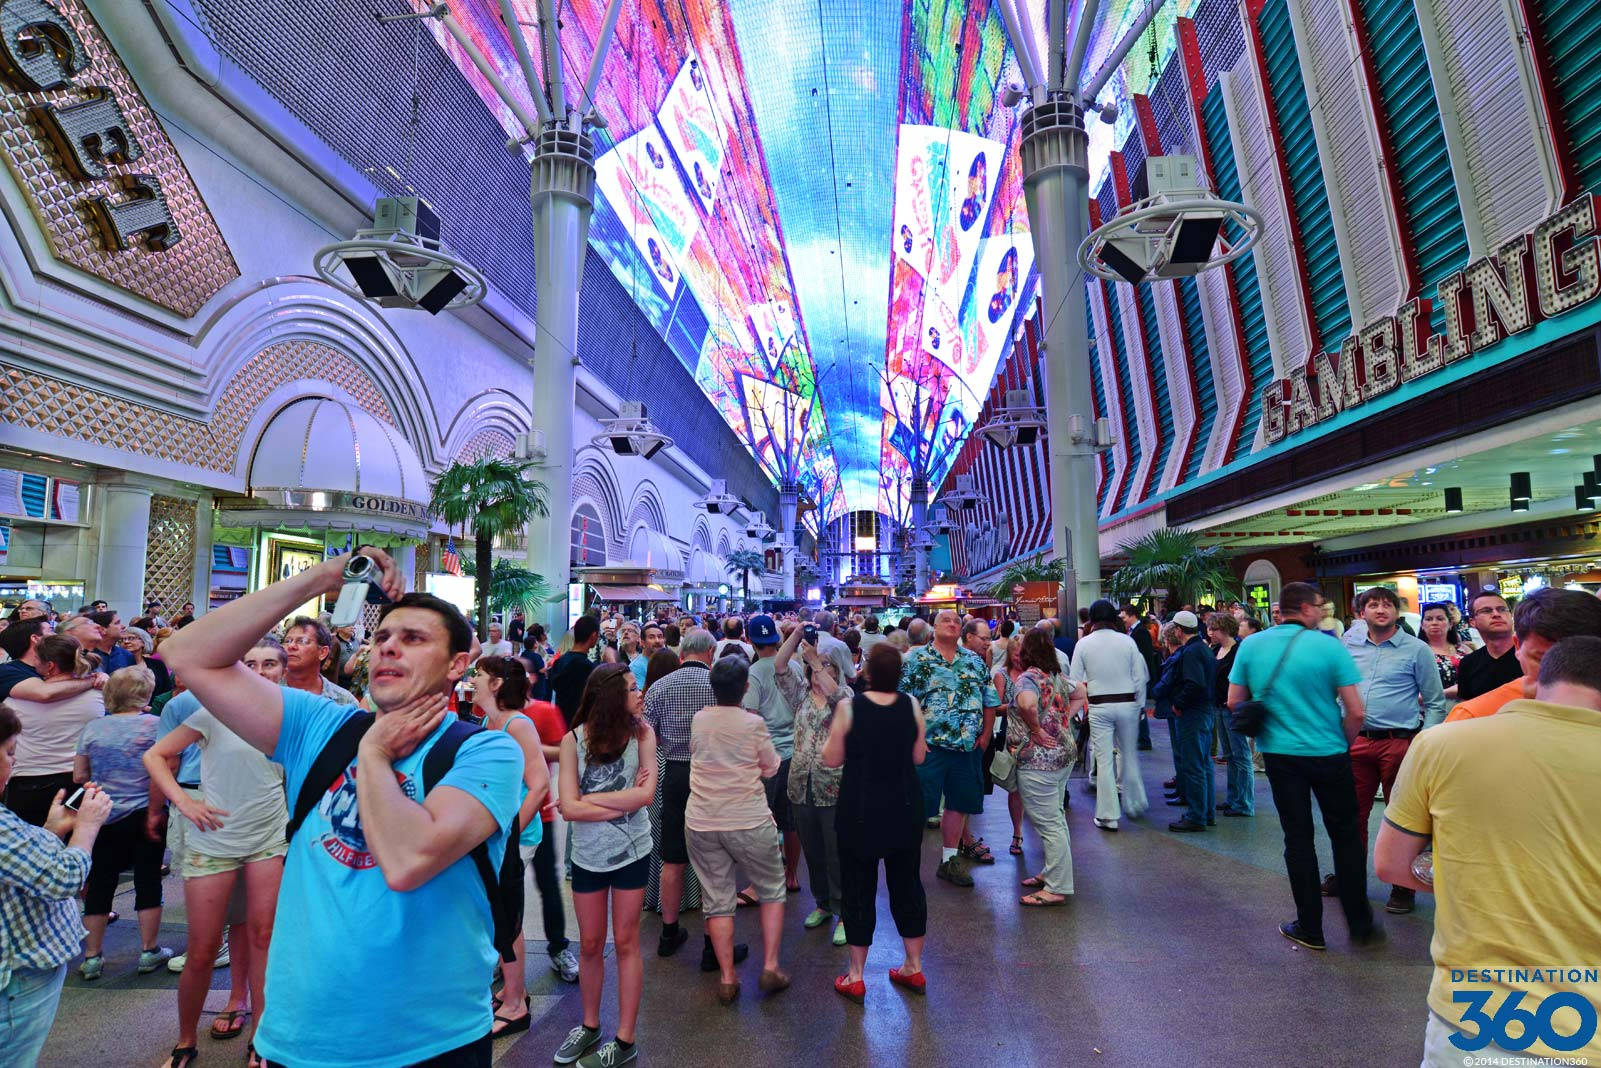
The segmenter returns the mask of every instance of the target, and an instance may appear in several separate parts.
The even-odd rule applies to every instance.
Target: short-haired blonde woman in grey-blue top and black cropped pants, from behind
[[[150,804],[150,775],[144,754],[155,745],[162,721],[149,714],[155,676],[149,668],[128,666],[112,673],[102,690],[106,716],[83,727],[72,761],[77,783],[99,783],[110,796],[110,817],[94,839],[90,879],[83,897],[83,964],[78,975],[96,980],[106,969],[101,946],[110,922],[110,901],[117,879],[133,868],[133,908],[139,916],[139,975],[147,975],[173,958],[157,945],[162,932],[162,849],[144,833]]]

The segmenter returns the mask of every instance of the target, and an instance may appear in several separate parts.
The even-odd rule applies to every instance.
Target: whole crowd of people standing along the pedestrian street
[[[700,969],[724,1006],[749,956],[735,916],[754,909],[756,988],[784,991],[802,865],[804,927],[847,948],[834,990],[868,998],[882,868],[905,946],[887,980],[921,994],[924,836],[940,839],[935,879],[972,887],[996,860],[972,818],[1004,796],[1009,853],[1025,855],[1025,818],[1041,845],[1018,906],[1068,905],[1069,775],[1084,767],[1100,831],[1142,820],[1151,719],[1167,721],[1175,834],[1254,818],[1266,775],[1295,909],[1279,932],[1306,950],[1327,945],[1322,897],[1353,943],[1383,938],[1367,898],[1383,799],[1372,865],[1386,911],[1412,911],[1420,890],[1438,900],[1428,1068],[1462,1063],[1443,969],[1513,945],[1542,962],[1601,946],[1587,903],[1601,885],[1601,599],[1588,592],[1542,589],[1516,612],[1481,592],[1465,616],[1423,605],[1420,636],[1386,588],[1359,594],[1346,624],[1316,586],[1289,583],[1270,621],[1238,602],[1158,618],[1097,600],[1066,624],[596,612],[552,645],[522,615],[480,640],[365,552],[387,597],[365,637],[295,615],[338,589],[341,559],[200,616],[184,605],[168,621],[152,604],[123,626],[101,604],[56,618],[24,602],[6,620],[0,1066],[35,1063],[72,961],[85,982],[106,974],[126,871],[134,970],[181,974],[170,1068],[199,1057],[216,967],[232,990],[210,1034],[245,1038],[251,1065],[346,1065],[355,1033],[368,1065],[488,1065],[495,1039],[532,1025],[528,873],[549,967],[581,994],[557,1065],[637,1057],[647,895],[660,958],[688,943],[684,906],[698,900]],[[163,860],[183,879],[183,954],[158,945]],[[343,996],[357,986],[359,1004]],[[407,1026],[365,1026],[375,999]]]

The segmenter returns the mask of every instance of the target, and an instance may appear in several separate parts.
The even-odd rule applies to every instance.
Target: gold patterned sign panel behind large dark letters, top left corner
[[[75,30],[88,66],[72,72],[66,85],[42,91],[24,91],[27,78],[14,70],[5,72],[8,77],[0,78],[0,155],[56,259],[162,307],[194,315],[239,277],[239,266],[160,120],[83,2],[51,0],[51,6]],[[53,123],[48,118],[51,112],[70,115],[72,107],[98,102],[96,90],[106,90],[115,101],[131,143],[120,157],[91,159],[91,170],[104,173],[102,178],[74,173],[82,170],[80,165],[69,163],[72,152],[58,144],[59,133],[54,139],[50,133],[67,122]],[[136,175],[149,175],[158,183],[154,200],[176,224],[179,240],[167,248],[160,247],[162,239],[150,235],[134,235],[128,248],[117,248],[106,232],[96,200],[128,205],[130,187],[136,189],[133,197],[150,192],[147,183],[134,181]]]

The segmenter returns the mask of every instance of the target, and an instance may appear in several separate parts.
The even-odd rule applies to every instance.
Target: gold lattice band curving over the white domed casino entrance
[[[389,404],[344,352],[315,341],[267,346],[234,375],[210,421],[189,420],[86,386],[0,363],[0,420],[34,431],[232,472],[240,437],[267,394],[288,381],[339,386],[394,426]]]

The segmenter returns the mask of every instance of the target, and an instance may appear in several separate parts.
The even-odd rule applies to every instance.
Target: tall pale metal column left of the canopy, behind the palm
[[[578,370],[578,285],[584,275],[594,207],[594,146],[584,133],[552,125],[533,157],[533,263],[538,314],[533,343],[533,429],[544,432],[535,477],[549,490],[549,516],[528,524],[528,568],[565,592],[573,516],[573,410]],[[554,642],[567,631],[565,597],[540,608]]]

